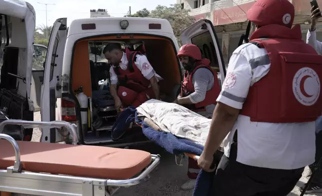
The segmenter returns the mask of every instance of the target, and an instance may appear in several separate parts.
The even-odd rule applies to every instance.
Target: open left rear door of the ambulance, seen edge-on
[[[62,59],[67,38],[67,18],[58,18],[53,23],[50,33],[46,61],[41,86],[41,121],[55,120],[56,99],[61,97],[59,83],[61,80]],[[59,142],[56,140],[55,128],[42,128],[42,142]]]

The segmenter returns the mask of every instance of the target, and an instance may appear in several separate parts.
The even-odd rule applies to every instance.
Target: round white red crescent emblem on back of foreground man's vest
[[[320,80],[317,73],[309,68],[300,68],[293,77],[293,93],[303,105],[313,105],[320,94]]]

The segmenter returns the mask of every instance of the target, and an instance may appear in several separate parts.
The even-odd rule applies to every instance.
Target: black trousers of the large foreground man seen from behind
[[[222,156],[214,179],[216,196],[286,196],[302,175],[298,169],[270,169],[236,161],[237,144],[230,157]]]

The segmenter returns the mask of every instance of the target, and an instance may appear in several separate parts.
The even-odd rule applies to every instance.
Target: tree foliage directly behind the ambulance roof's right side
[[[151,11],[143,8],[134,14],[127,14],[125,16],[166,19],[170,22],[178,42],[181,42],[179,39],[181,31],[193,23],[193,17],[189,15],[189,11],[188,9],[182,9],[180,4],[171,4],[170,6],[157,5]]]

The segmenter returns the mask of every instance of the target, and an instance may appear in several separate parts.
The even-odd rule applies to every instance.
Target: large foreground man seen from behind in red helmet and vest
[[[255,30],[229,59],[198,165],[211,171],[223,140],[215,195],[285,196],[314,162],[322,56],[291,28],[288,0],[257,0],[247,18]]]

